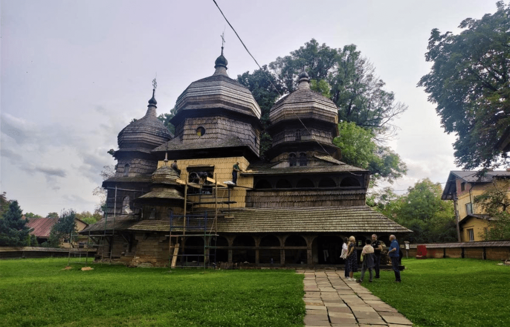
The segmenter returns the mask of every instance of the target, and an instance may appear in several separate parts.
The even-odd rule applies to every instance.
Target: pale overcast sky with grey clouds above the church
[[[496,11],[496,0],[216,0],[263,65],[315,38],[355,44],[409,106],[391,143],[409,172],[398,193],[423,178],[445,182],[453,135],[416,84],[428,72],[430,31],[458,33],[465,18]],[[225,31],[232,78],[257,69],[212,0],[1,0],[1,192],[23,212],[93,211],[109,149],[144,116],[157,74],[158,114],[194,80],[214,72]]]

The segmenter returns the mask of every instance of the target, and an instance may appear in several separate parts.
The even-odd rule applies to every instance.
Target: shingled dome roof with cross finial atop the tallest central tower
[[[221,55],[216,59],[212,76],[191,83],[177,98],[177,115],[185,111],[223,109],[260,119],[261,110],[251,92],[226,73],[228,61]]]

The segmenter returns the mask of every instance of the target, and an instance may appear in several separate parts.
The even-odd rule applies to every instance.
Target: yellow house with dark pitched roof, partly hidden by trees
[[[441,197],[453,200],[460,242],[483,240],[491,217],[474,204],[474,199],[485,192],[494,179],[510,177],[510,170],[488,171],[482,177],[477,174],[478,171],[450,171]]]

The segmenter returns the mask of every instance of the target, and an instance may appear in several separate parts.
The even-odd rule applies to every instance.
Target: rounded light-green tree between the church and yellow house
[[[453,203],[441,200],[442,187],[428,178],[418,181],[393,205],[390,216],[413,230],[406,237],[412,243],[454,242],[457,240]]]

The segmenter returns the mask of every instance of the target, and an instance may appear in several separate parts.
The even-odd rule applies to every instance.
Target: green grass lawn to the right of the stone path
[[[380,279],[365,281],[363,286],[419,327],[506,327],[510,326],[510,267],[497,263],[404,259],[402,283],[395,283],[393,271],[385,270]]]

